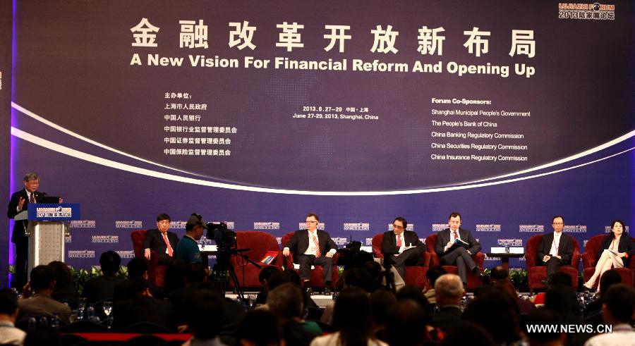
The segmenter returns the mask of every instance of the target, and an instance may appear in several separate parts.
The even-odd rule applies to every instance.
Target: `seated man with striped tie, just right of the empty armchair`
[[[333,255],[337,251],[337,245],[331,239],[329,233],[317,229],[320,218],[313,213],[306,216],[306,230],[296,230],[294,236],[284,245],[282,254],[289,256],[294,252],[294,263],[300,265],[300,278],[305,288],[311,280],[311,266],[324,267],[325,293],[331,290],[331,278],[333,277]]]

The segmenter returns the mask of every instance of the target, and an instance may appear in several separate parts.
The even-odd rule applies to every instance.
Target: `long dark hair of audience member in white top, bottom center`
[[[335,301],[333,327],[339,332],[339,345],[366,345],[373,328],[365,290],[356,286],[341,290]]]

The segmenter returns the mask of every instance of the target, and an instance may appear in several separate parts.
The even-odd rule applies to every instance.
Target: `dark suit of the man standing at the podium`
[[[33,192],[35,195],[35,202],[41,200],[44,197],[42,192]],[[20,197],[24,199],[22,210],[27,210],[29,206],[29,196],[26,189],[22,189],[14,194],[11,194],[11,200],[7,206],[6,216],[8,218],[14,218],[18,215],[18,204],[20,203]],[[25,235],[26,221],[16,221],[13,223],[13,234],[11,235],[11,242],[16,244],[16,275],[13,277],[11,287],[21,289],[27,282],[27,259],[29,253],[29,238]]]

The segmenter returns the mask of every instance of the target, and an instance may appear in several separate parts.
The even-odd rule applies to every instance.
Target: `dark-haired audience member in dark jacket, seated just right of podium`
[[[118,275],[120,264],[121,257],[114,251],[107,251],[99,256],[99,266],[104,275],[86,281],[82,297],[86,297],[89,303],[112,299],[115,285],[123,281]]]

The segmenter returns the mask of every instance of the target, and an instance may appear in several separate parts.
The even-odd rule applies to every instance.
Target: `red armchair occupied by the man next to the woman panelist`
[[[527,265],[527,278],[529,283],[529,292],[533,292],[536,288],[545,288],[543,284],[544,280],[547,280],[547,267],[538,266],[538,247],[540,246],[540,240],[543,239],[543,235],[534,235],[527,240],[525,247],[525,264]],[[571,276],[571,283],[573,288],[578,288],[578,266],[580,264],[580,250],[578,241],[576,238],[571,237],[574,245],[573,257],[571,257],[571,266],[561,266],[558,271],[564,271],[564,273]]]

